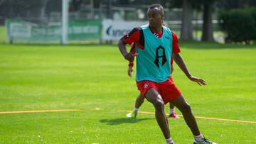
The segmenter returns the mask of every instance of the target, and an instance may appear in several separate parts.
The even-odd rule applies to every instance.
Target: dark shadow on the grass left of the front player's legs
[[[151,120],[154,118],[115,118],[115,119],[100,119],[100,123],[107,123],[107,125],[119,125],[122,123],[137,123],[139,121]]]

